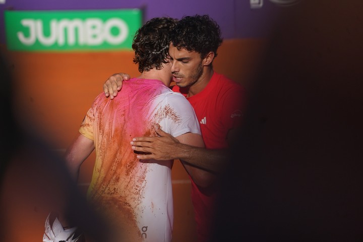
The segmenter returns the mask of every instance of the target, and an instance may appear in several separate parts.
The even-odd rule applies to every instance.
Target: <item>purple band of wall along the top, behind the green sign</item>
[[[5,43],[5,9],[14,10],[86,10],[125,9],[144,10],[144,22],[153,17],[181,18],[185,15],[208,14],[220,25],[222,35],[229,38],[265,37],[273,19],[286,8],[264,0],[263,7],[251,9],[249,0],[5,0],[0,4],[0,43]]]

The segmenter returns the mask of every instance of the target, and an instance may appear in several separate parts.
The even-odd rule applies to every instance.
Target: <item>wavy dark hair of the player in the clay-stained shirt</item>
[[[146,22],[135,34],[132,48],[135,50],[134,63],[140,72],[161,69],[168,62],[171,29],[177,20],[173,18],[153,18]]]

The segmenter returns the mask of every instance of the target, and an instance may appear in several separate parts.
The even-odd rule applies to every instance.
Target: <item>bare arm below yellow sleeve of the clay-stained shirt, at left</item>
[[[93,150],[93,140],[90,140],[81,134],[78,134],[73,143],[67,149],[65,157],[67,166],[75,180],[78,179],[81,164],[85,161],[85,159],[87,159]]]

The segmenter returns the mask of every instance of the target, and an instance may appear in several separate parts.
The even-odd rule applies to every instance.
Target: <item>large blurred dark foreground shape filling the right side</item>
[[[271,36],[214,241],[363,240],[361,1],[302,1]]]

